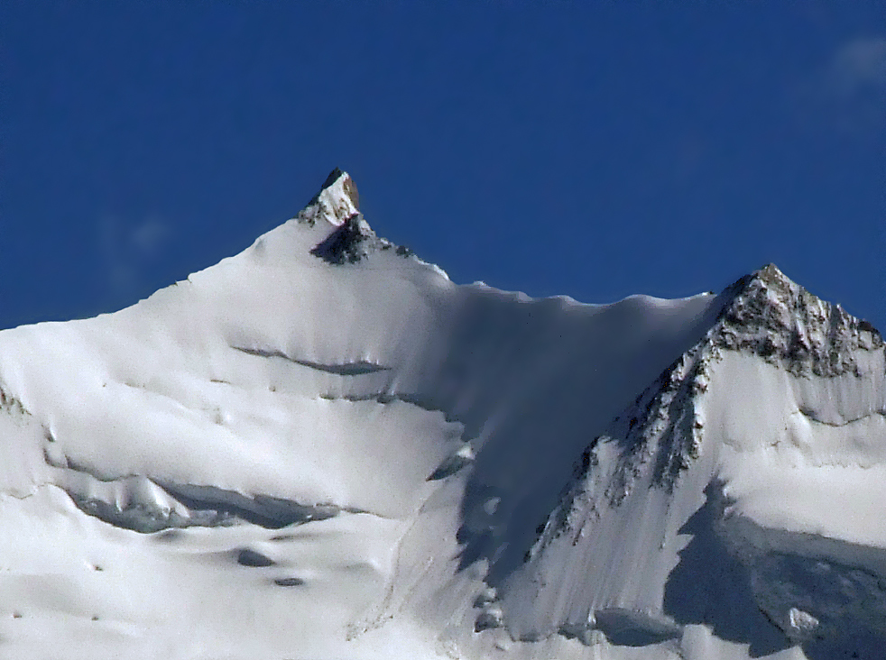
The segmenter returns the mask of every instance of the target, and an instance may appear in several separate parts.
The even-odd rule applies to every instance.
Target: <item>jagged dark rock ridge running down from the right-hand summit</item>
[[[594,461],[597,443],[618,438],[625,450],[607,500],[617,504],[630,491],[641,465],[654,459],[653,482],[671,489],[679,472],[697,457],[704,422],[696,395],[707,389],[711,363],[722,351],[758,355],[796,376],[863,375],[859,352],[882,351],[880,333],[843,307],[817,298],[768,264],[743,277],[719,297],[715,325],[644,390],[612,429],[588,446],[577,465],[580,479]]]

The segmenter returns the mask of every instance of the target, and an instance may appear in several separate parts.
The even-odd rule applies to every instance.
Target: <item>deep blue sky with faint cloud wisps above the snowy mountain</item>
[[[5,0],[0,147],[0,327],[134,303],[340,166],[457,282],[775,261],[886,330],[884,2]]]

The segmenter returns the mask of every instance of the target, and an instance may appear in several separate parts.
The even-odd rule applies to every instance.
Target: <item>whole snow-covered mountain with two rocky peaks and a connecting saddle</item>
[[[335,170],[133,307],[0,333],[0,656],[881,658],[884,376],[772,265],[456,285]]]

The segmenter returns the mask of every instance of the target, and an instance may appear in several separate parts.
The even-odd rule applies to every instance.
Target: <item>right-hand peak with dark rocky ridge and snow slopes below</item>
[[[586,447],[499,586],[514,637],[881,653],[881,337],[771,265],[721,299],[705,337]]]

